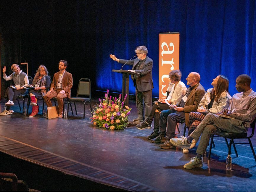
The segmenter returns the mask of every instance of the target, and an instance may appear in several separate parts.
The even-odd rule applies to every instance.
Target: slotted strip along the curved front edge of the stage
[[[35,146],[31,146],[29,144],[17,141],[12,138],[5,137],[3,135],[0,135],[0,140],[5,140],[5,141],[7,140],[6,142],[12,141],[13,144],[18,145],[15,148],[8,149],[8,146],[4,146],[5,144],[2,143],[2,144],[0,144],[0,150],[2,152],[12,155],[12,156],[15,156],[20,159],[29,161],[29,162],[33,162],[33,163],[36,163],[36,164],[39,164],[39,165],[42,165],[45,167],[49,167],[54,170],[66,172],[71,175],[78,176],[80,178],[92,180],[94,182],[99,182],[99,183],[102,183],[105,185],[119,187],[119,188],[122,188],[122,189],[125,189],[128,191],[157,191],[156,188],[153,188],[149,185],[134,181],[129,178],[125,178],[121,175],[117,175],[112,172],[108,172],[108,171],[102,170],[97,167],[93,167],[91,165],[88,165],[88,164],[85,164],[82,162],[78,162],[73,159],[69,159],[69,158],[61,156],[61,155],[54,154],[50,151],[46,151],[44,149],[40,149]],[[18,152],[16,152],[17,149],[20,149],[20,147],[22,147],[22,146],[28,147],[27,157],[25,155],[19,155]],[[31,148],[32,148],[32,150],[31,150]],[[38,153],[37,153],[38,151],[44,152],[46,154],[47,158],[40,158],[41,160],[37,160],[37,158],[39,157]],[[37,154],[35,156],[33,156],[33,158],[28,157],[28,156],[31,156],[32,153],[34,153],[34,154],[37,153]],[[26,152],[23,152],[22,154],[26,154]],[[41,156],[42,156],[42,154],[41,154]],[[49,158],[49,156],[50,156],[50,158]],[[53,162],[53,161],[50,162],[49,159],[50,160],[54,159],[55,162]],[[60,161],[60,159],[66,160],[65,166],[62,163],[63,161]],[[48,162],[48,163],[46,163],[46,162]],[[78,167],[79,169],[72,171],[73,166],[71,166],[71,167],[69,167],[69,166],[74,165],[74,163],[75,163],[75,167]],[[52,164],[54,164],[54,165],[52,165]],[[67,169],[64,169],[63,166],[67,167]],[[68,170],[68,169],[70,169],[70,170]]]

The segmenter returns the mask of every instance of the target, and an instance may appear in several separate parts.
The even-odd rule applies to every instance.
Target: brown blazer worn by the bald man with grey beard
[[[189,89],[187,89],[186,93],[189,91]],[[185,95],[186,95],[185,93]],[[186,122],[186,126],[190,127],[190,123],[189,123],[189,113],[192,111],[197,111],[198,105],[201,101],[201,99],[203,98],[203,96],[205,95],[205,89],[203,88],[203,86],[198,83],[195,88],[191,91],[191,93],[188,96],[188,99],[184,105],[184,112],[185,112],[185,122]],[[179,102],[178,106],[180,106],[181,101]]]

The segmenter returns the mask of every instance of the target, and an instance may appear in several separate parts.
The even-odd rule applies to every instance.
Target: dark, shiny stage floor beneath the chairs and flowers
[[[40,101],[39,106],[42,111]],[[3,107],[1,103],[1,111]],[[222,138],[214,140],[212,160],[204,157],[202,168],[186,170],[183,165],[195,156],[195,150],[183,154],[180,149],[160,149],[146,139],[152,128],[97,128],[89,119],[89,106],[85,120],[83,105],[77,107],[77,116],[70,111],[68,119],[47,120],[41,115],[24,117],[16,103],[12,107],[15,113],[0,116],[0,151],[128,191],[256,191],[256,163],[247,145],[237,146],[238,158],[231,155],[233,170],[229,173],[228,149]],[[136,117],[135,102],[130,100],[129,107],[131,121]],[[255,137],[252,143],[256,146]]]

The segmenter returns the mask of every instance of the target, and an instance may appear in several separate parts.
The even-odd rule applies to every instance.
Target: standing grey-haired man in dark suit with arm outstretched
[[[137,55],[136,59],[125,60],[117,59],[115,55],[110,55],[110,58],[122,64],[132,65],[132,72],[139,73],[139,76],[131,75],[135,89],[136,89],[136,107],[138,109],[138,117],[134,119],[134,122],[140,122],[147,118],[151,112],[152,103],[152,89],[153,79],[152,79],[152,67],[153,60],[150,59],[148,54],[148,49],[146,46],[138,46],[135,49]],[[145,104],[145,116],[144,116],[144,104]]]

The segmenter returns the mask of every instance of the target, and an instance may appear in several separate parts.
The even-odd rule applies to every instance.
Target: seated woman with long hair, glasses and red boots
[[[48,71],[44,65],[40,65],[33,79],[32,85],[35,87],[29,91],[29,96],[32,105],[32,113],[29,117],[34,117],[38,114],[37,99],[43,99],[47,90],[50,88],[51,79],[48,76]]]

